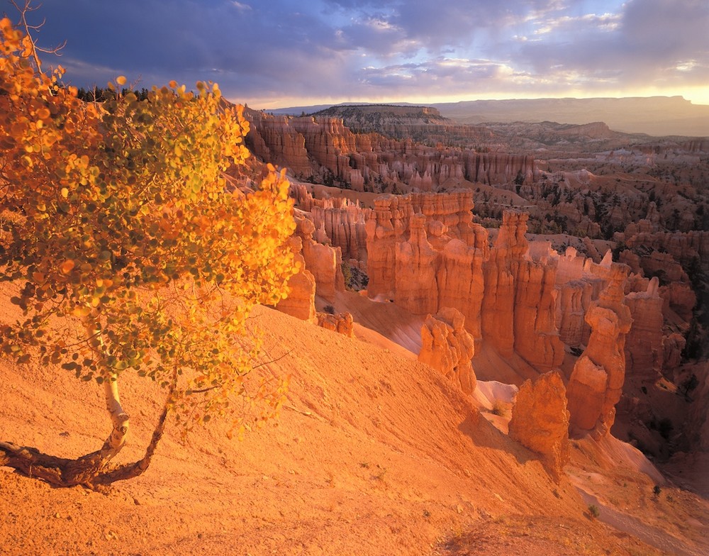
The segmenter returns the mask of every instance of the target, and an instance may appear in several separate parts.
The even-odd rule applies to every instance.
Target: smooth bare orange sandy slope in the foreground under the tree
[[[588,518],[571,482],[554,484],[452,384],[383,336],[359,329],[377,346],[267,308],[252,321],[264,329],[266,359],[289,352],[264,367],[291,375],[278,426],[238,442],[213,423],[186,444],[171,426],[152,467],[108,494],[0,469],[0,553],[661,553]],[[121,382],[128,461],[150,437],[160,391]],[[0,400],[4,440],[75,456],[108,433],[99,389],[68,372],[0,360]]]

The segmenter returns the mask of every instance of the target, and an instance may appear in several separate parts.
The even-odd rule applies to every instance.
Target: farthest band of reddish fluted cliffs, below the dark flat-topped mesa
[[[533,182],[530,155],[428,147],[411,139],[352,133],[342,118],[291,118],[247,111],[247,144],[259,157],[288,167],[300,179],[338,182],[355,191],[435,191],[450,179]]]

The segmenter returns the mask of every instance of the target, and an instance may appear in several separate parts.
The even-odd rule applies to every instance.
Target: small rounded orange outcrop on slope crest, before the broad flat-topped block
[[[421,326],[418,360],[457,382],[465,394],[475,390],[476,377],[470,360],[474,341],[465,329],[465,318],[454,308],[444,307],[428,315]]]

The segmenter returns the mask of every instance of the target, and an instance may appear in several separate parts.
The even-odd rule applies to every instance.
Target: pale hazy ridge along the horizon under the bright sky
[[[333,106],[420,106],[406,102],[320,104],[267,110],[277,115],[301,116]],[[432,103],[444,118],[481,124],[553,121],[585,124],[603,121],[615,131],[647,135],[709,137],[709,105],[692,104],[682,96],[588,99],[511,99]]]

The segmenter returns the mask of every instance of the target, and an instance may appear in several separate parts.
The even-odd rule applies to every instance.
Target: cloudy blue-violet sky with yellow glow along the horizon
[[[4,5],[2,5],[4,4]],[[16,10],[0,0],[14,21]],[[41,0],[65,82],[218,82],[255,109],[684,96],[709,104],[709,0]]]

